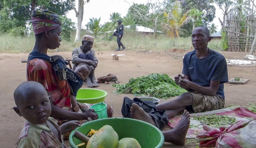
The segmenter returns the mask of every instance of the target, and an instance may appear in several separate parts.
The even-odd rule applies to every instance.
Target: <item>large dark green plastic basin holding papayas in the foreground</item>
[[[104,125],[110,125],[118,134],[119,140],[125,137],[135,138],[142,148],[161,148],[164,143],[164,135],[152,124],[144,121],[130,118],[105,118],[87,122],[75,130],[80,131],[84,135],[91,129],[99,130]],[[77,148],[76,145],[82,143],[77,138],[73,137],[75,130],[69,136],[69,143],[72,148]],[[83,147],[79,148],[85,148]]]

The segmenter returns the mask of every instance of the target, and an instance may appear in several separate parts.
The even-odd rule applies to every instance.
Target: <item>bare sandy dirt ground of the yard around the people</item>
[[[119,60],[112,60],[110,56],[114,51],[96,52],[99,59],[96,68],[95,77],[106,76],[114,73],[118,76],[120,83],[127,83],[130,78],[135,78],[152,73],[165,73],[171,78],[181,73],[182,57],[186,51],[170,50],[167,52],[151,52],[148,51],[121,51],[118,54],[125,54],[119,57]],[[221,52],[226,59],[243,59],[247,53],[231,53]],[[49,55],[62,55],[64,58],[71,58],[71,52],[56,52]],[[0,54],[0,147],[15,147],[21,129],[24,125],[24,119],[19,117],[12,109],[15,106],[13,92],[15,88],[22,82],[26,81],[26,63],[21,63],[21,59],[27,59],[28,53],[20,54]],[[249,102],[256,103],[256,66],[241,67],[228,66],[229,78],[249,78],[249,82],[245,85],[224,84],[226,96],[225,106],[243,105]],[[83,85],[82,88],[87,88]],[[133,94],[116,95],[112,92],[112,88],[106,84],[100,84],[98,89],[108,92],[105,101],[112,105],[114,109],[114,117],[122,117],[121,105],[124,96],[134,98]],[[172,97],[170,99],[174,99]],[[169,99],[168,99],[169,100]],[[160,102],[167,100],[160,99]],[[67,141],[65,143],[68,143]],[[165,145],[165,147],[168,144]]]

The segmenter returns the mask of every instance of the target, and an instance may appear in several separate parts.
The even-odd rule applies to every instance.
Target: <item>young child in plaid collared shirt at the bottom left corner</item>
[[[17,142],[18,148],[24,147],[66,147],[63,137],[71,126],[80,126],[79,121],[69,121],[57,125],[57,120],[49,117],[51,104],[44,86],[35,81],[20,84],[14,91],[13,107],[19,116],[26,119]]]

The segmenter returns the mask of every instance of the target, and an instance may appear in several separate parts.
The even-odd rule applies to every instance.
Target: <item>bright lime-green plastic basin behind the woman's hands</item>
[[[100,103],[104,102],[107,92],[100,89],[82,88],[79,89],[76,96],[76,101],[80,103]]]

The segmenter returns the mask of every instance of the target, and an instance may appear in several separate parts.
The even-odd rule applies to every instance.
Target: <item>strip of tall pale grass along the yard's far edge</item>
[[[88,34],[82,30],[81,38],[83,35]],[[106,40],[110,37],[108,34],[98,35],[94,39],[93,48],[96,51],[109,51],[117,49],[116,37],[112,40]],[[71,34],[71,41],[62,40],[59,51],[72,51],[73,48],[79,47],[81,41],[75,42],[75,32]],[[122,43],[126,47],[125,50],[143,50],[143,51],[166,51],[172,48],[190,50],[192,47],[191,37],[171,39],[164,34],[158,34],[157,37],[153,34],[142,34],[138,32],[124,31]],[[15,37],[10,34],[0,35],[0,53],[21,53],[31,52],[35,44],[35,37],[31,35],[29,37]],[[220,40],[212,40],[208,43],[208,47],[213,50],[222,50],[220,47]],[[50,51],[50,50],[49,50]]]

